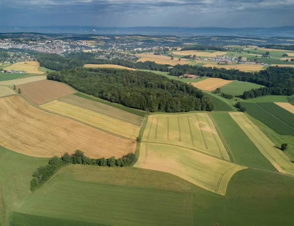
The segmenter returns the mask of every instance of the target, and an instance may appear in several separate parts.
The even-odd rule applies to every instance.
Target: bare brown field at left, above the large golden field
[[[50,80],[30,82],[18,85],[16,88],[20,88],[25,99],[35,105],[40,105],[42,103],[75,93],[75,91],[68,86],[60,82]]]

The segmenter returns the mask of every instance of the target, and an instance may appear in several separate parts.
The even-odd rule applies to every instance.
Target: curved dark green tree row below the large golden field
[[[89,158],[84,155],[83,151],[76,150],[74,154],[64,153],[61,157],[53,156],[50,158],[46,166],[39,167],[33,174],[30,181],[30,190],[33,192],[40,188],[48,181],[59,169],[70,164],[83,164],[108,167],[126,167],[132,166],[136,162],[134,153],[129,153],[121,158],[116,159],[114,156],[110,158]]]

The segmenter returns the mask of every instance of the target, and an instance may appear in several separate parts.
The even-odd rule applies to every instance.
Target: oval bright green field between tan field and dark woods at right
[[[257,85],[251,82],[244,81],[233,81],[229,84],[226,84],[221,87],[221,92],[226,94],[231,94],[233,96],[241,96],[244,91],[248,91],[251,89],[258,89],[260,87],[264,87],[262,85]]]

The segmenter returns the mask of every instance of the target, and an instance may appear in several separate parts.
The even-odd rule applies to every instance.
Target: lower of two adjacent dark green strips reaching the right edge
[[[275,117],[269,111],[262,108],[257,103],[242,102],[242,106],[246,108],[246,111],[252,117],[260,120],[274,131],[281,135],[294,135],[294,128]]]

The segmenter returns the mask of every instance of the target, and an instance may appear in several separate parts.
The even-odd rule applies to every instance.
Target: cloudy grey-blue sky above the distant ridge
[[[294,25],[294,0],[0,0],[5,26],[274,27]]]

